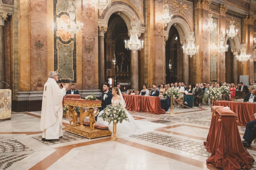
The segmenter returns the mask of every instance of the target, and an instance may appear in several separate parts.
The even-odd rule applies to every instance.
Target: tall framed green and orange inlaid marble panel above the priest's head
[[[76,33],[69,33],[71,22],[67,9],[68,0],[53,1],[54,21],[54,70],[63,83],[76,83]]]

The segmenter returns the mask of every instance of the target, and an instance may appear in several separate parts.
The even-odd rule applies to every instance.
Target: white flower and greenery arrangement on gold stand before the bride
[[[125,109],[121,104],[108,105],[99,117],[101,117],[104,121],[107,121],[108,124],[110,124],[111,122],[122,123],[124,120],[129,121],[128,116],[125,113]]]

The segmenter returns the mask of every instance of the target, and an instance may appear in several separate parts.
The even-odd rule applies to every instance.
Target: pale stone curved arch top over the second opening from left
[[[171,26],[174,26],[177,29],[180,40],[186,40],[188,38],[191,29],[186,20],[182,18],[173,18],[168,24],[166,31],[164,31],[164,36],[168,36]]]

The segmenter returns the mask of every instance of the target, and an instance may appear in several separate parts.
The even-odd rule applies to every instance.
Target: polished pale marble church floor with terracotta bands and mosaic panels
[[[42,141],[41,112],[12,113],[11,120],[0,122],[0,170],[215,169],[206,164],[210,153],[203,144],[211,123],[210,107],[175,108],[174,114],[164,115],[130,113],[138,122],[148,120],[166,127],[118,142],[109,137],[89,140],[66,132],[69,119],[64,118],[63,137]],[[242,137],[245,127],[238,128]],[[256,144],[248,152],[256,159]]]

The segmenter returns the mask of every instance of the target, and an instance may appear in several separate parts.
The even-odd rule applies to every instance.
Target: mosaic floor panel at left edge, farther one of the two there
[[[21,144],[19,141],[15,139],[9,139],[2,141],[0,143],[0,153],[3,152],[20,152],[20,151],[31,151],[30,148]]]

